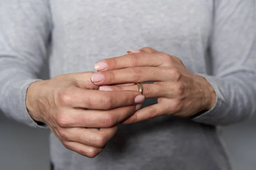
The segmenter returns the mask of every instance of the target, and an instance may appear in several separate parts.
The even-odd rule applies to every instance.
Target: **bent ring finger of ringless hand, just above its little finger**
[[[87,146],[102,148],[114,136],[117,131],[117,125],[110,128],[63,128],[59,130],[62,139],[67,141],[79,142]]]

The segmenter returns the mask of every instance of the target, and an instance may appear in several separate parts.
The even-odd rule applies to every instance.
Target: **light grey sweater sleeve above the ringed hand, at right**
[[[215,0],[210,54],[213,75],[204,75],[216,94],[215,105],[193,118],[229,125],[256,111],[255,0]]]

